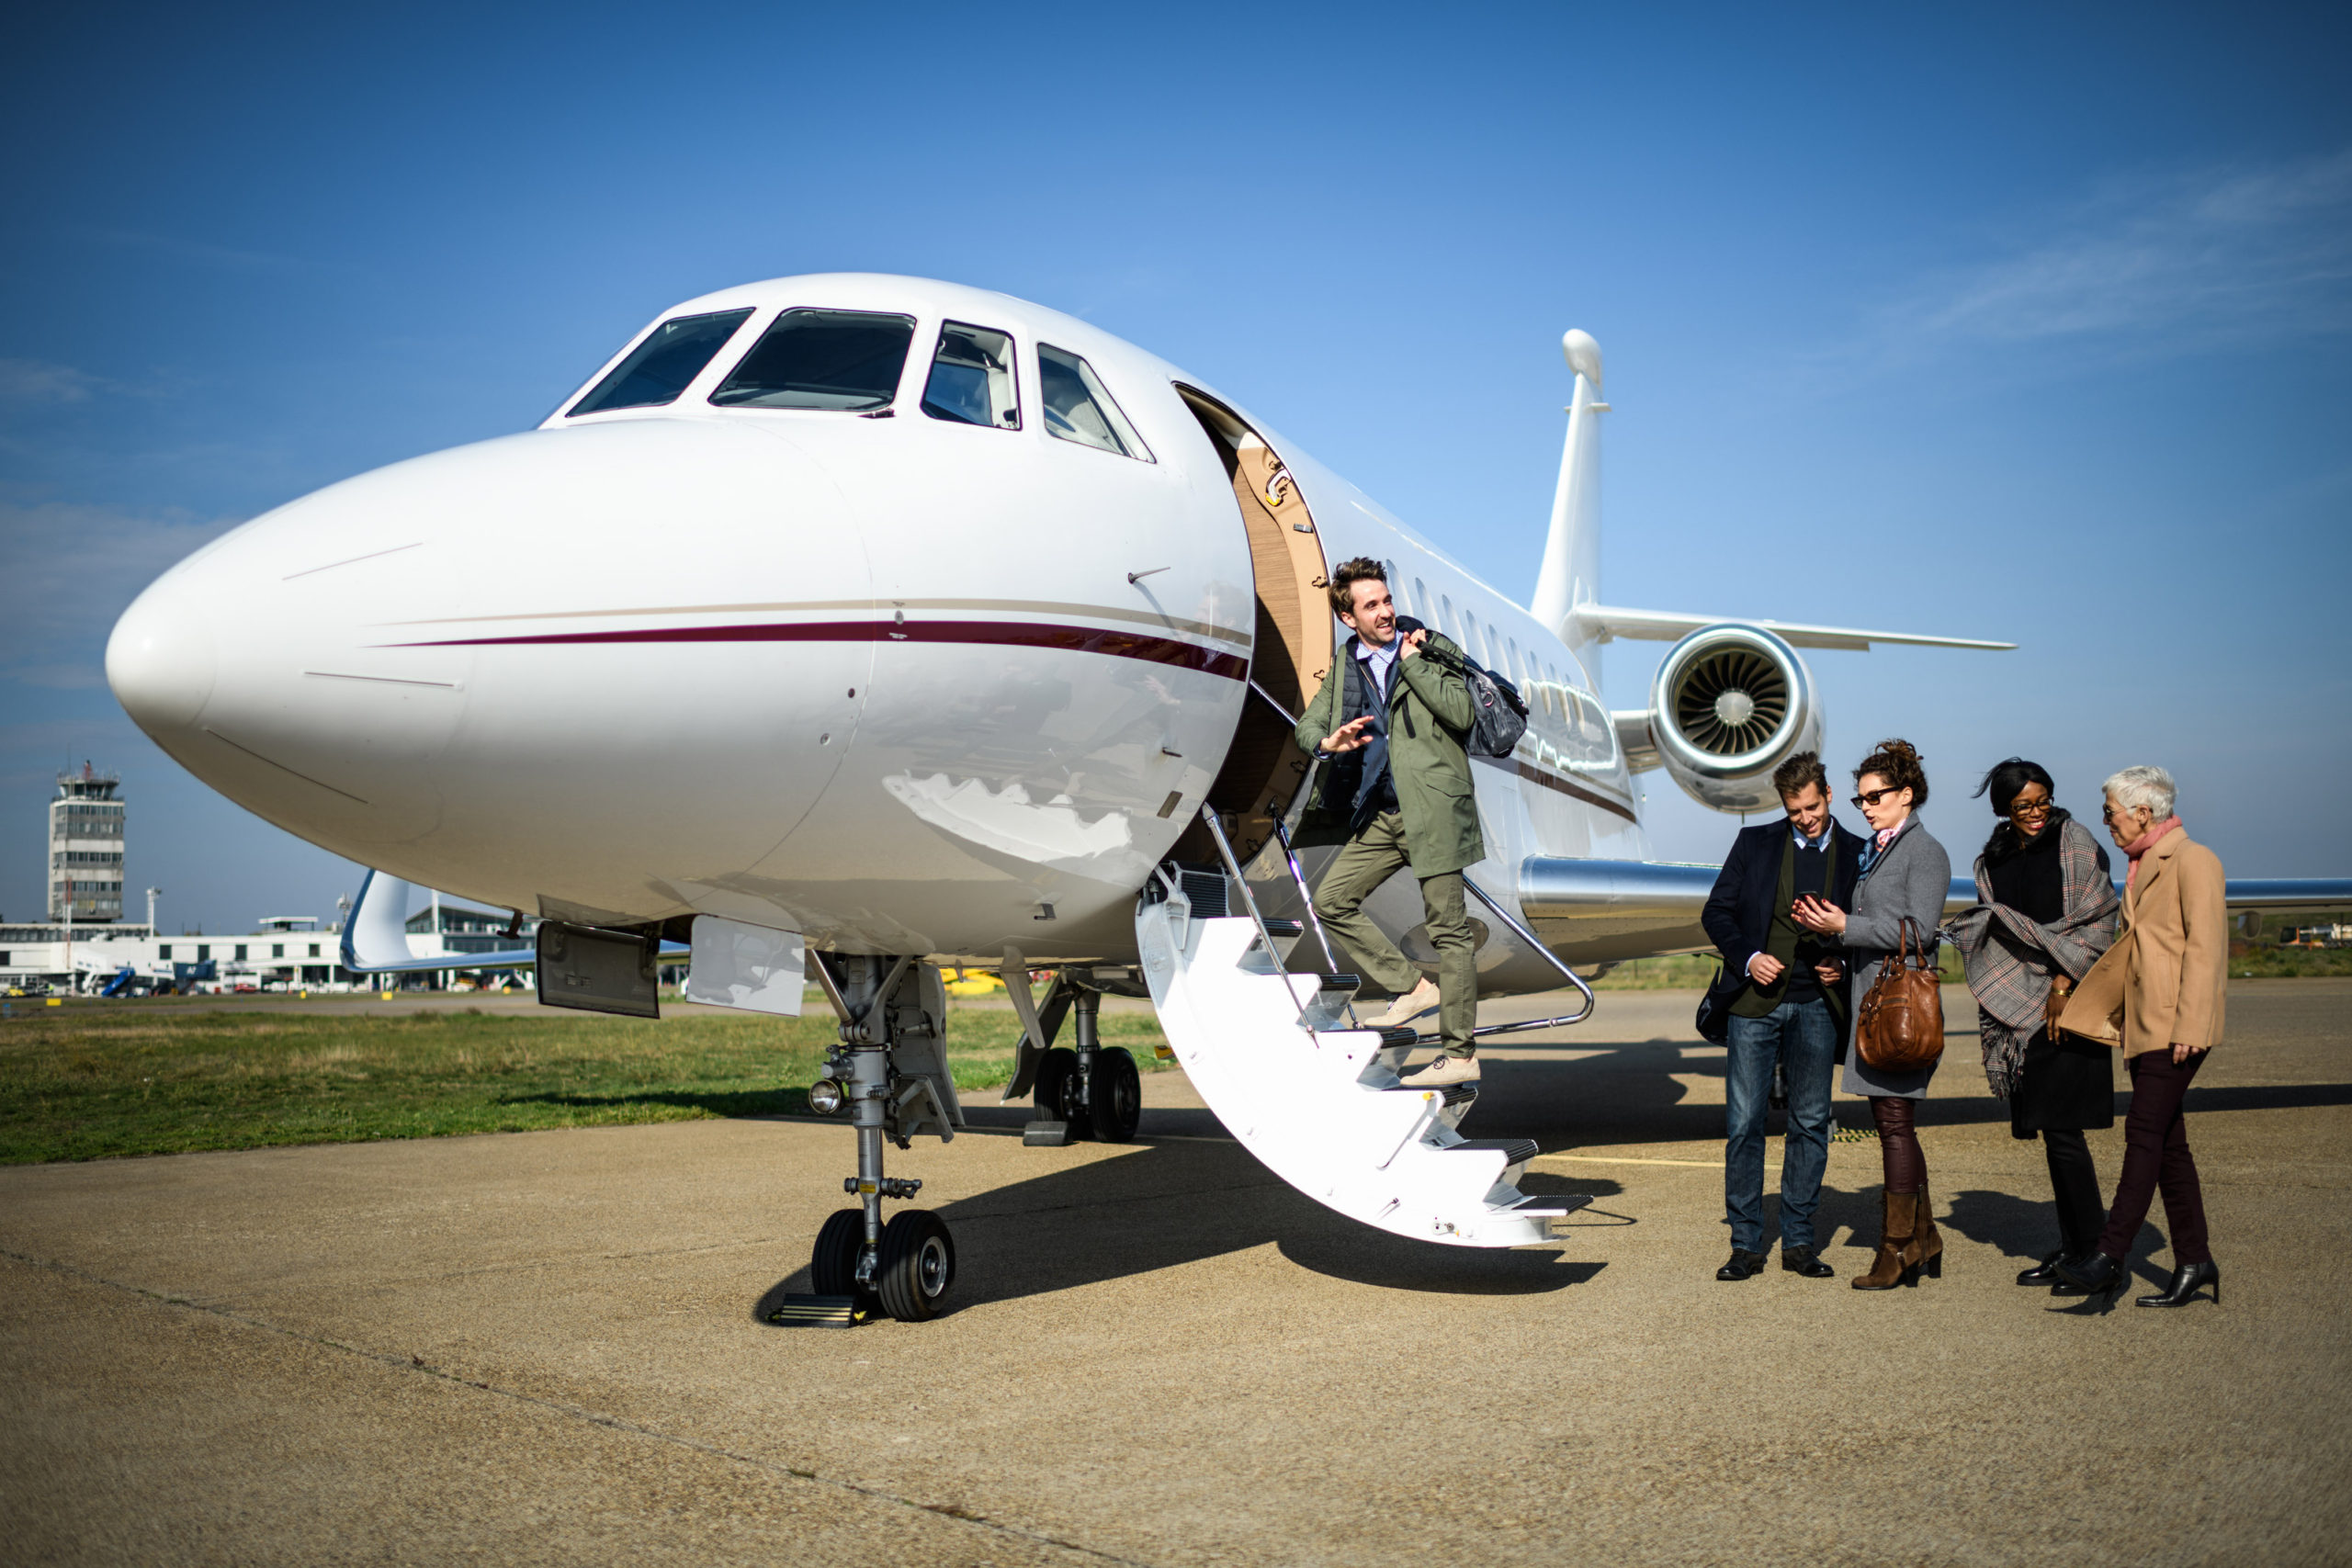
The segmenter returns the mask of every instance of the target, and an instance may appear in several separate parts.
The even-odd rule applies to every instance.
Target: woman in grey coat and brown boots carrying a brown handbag
[[[1835,936],[1846,950],[1853,973],[1856,1006],[1846,1013],[1846,1072],[1839,1088],[1870,1095],[1870,1119],[1879,1126],[1879,1161],[1886,1171],[1884,1225],[1879,1255],[1870,1272],[1856,1276],[1856,1291],[1891,1291],[1919,1284],[1919,1272],[1943,1279],[1943,1234],[1926,1194],[1926,1157],[1912,1131],[1912,1105],[1926,1098],[1936,1063],[1912,1072],[1882,1072],[1863,1063],[1853,1046],[1860,997],[1879,978],[1879,969],[1903,945],[1903,922],[1912,924],[1912,945],[1926,945],[1936,961],[1936,926],[1943,924],[1943,900],[1952,889],[1952,856],[1926,825],[1926,769],[1910,741],[1879,741],[1877,750],[1853,769],[1853,806],[1870,823],[1863,842],[1863,875],[1853,884],[1853,912],[1818,896],[1804,896],[1790,917],[1811,931]]]

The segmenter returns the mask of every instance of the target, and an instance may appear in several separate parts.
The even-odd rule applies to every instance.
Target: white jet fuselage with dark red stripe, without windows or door
[[[115,630],[125,708],[259,816],[487,905],[1131,959],[1136,889],[1251,701],[1251,543],[1176,390],[1204,383],[908,277],[666,320],[731,308],[750,317],[675,402],[395,463],[181,562]],[[708,402],[788,308],[915,317],[887,418]],[[1021,428],[920,409],[943,320],[1014,339]],[[1040,341],[1091,362],[1150,461],[1047,430]],[[1392,562],[1404,614],[1538,693],[1519,757],[1477,773],[1486,886],[1529,853],[1644,858],[1576,651],[1249,423],[1324,559]]]

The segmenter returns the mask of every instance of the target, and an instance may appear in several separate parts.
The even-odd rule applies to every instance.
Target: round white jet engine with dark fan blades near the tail
[[[1820,750],[1813,672],[1762,625],[1703,625],[1658,665],[1649,736],[1658,766],[1700,806],[1773,811],[1771,771]]]

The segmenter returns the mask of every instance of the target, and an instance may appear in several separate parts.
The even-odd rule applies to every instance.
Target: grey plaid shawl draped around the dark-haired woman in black
[[[1978,903],[1945,926],[1969,969],[1976,1032],[1985,1048],[1985,1081],[2004,1100],[2018,1091],[2025,1044],[2042,1027],[2051,971],[2063,969],[2074,980],[2091,973],[2098,954],[2114,943],[2114,917],[2122,910],[2114,884],[2098,870],[2098,842],[2091,832],[2072,816],[2044,832],[2058,835],[2058,882],[2065,891],[2065,914],[2058,924],[2042,926],[2009,905],[1992,903],[1992,877],[1978,856]]]

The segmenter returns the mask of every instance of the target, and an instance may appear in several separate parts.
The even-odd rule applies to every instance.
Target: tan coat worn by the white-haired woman
[[[2124,936],[2074,987],[2058,1020],[2124,1056],[2220,1044],[2230,919],[2220,856],[2176,830],[2140,856],[2124,893]]]

